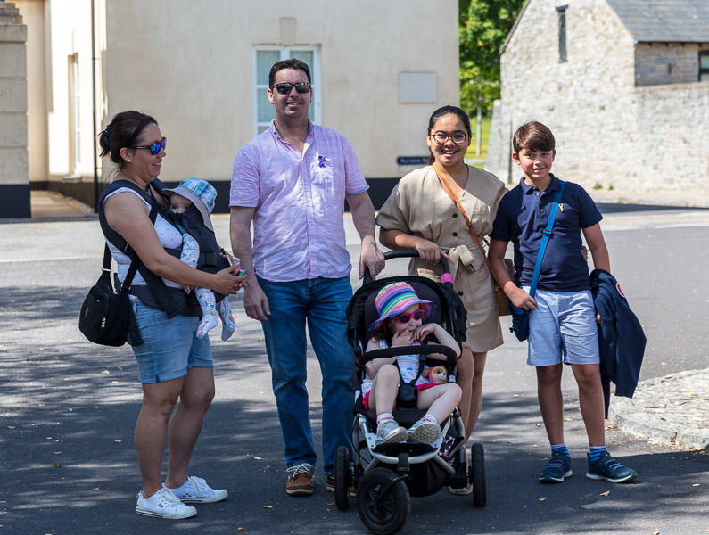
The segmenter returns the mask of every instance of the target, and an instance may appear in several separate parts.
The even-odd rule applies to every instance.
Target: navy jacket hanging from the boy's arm
[[[594,269],[590,279],[593,304],[601,316],[598,350],[607,417],[611,382],[615,383],[616,396],[632,398],[647,341],[615,277],[603,269]]]

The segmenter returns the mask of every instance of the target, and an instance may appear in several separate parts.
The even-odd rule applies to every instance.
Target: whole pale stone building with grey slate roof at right
[[[706,0],[529,0],[500,67],[485,165],[500,179],[521,176],[511,135],[536,119],[556,136],[559,177],[688,197],[706,187]]]

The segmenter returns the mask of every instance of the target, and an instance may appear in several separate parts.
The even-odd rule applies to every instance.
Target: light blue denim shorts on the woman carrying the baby
[[[209,335],[197,338],[199,317],[168,319],[162,310],[131,300],[143,343],[133,347],[141,383],[184,377],[193,366],[214,367]]]

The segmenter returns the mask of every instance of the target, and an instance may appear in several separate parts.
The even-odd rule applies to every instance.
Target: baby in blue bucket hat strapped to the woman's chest
[[[218,246],[210,219],[217,190],[205,180],[187,178],[176,188],[163,190],[162,193],[169,197],[172,219],[182,233],[180,260],[188,266],[210,272],[226,268],[227,260],[222,256],[224,251]],[[202,338],[216,327],[220,317],[221,339],[228,340],[235,332],[236,324],[227,297],[215,295],[207,288],[195,288],[194,293],[202,309],[197,337]]]

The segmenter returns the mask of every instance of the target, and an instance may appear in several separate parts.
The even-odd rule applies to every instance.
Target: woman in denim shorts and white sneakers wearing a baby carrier
[[[143,386],[143,407],[135,432],[143,490],[138,493],[136,513],[170,520],[187,518],[197,512],[186,503],[216,502],[227,498],[227,490],[211,489],[202,478],[188,474],[192,450],[214,397],[214,373],[209,337],[198,338],[195,333],[201,310],[185,299],[180,285],[227,295],[237,292],[245,277],[235,276],[238,262],[212,275],[189,267],[166,251],[182,246],[182,234],[160,211],[154,223],[150,218],[155,202],[169,206],[156,180],[166,155],[166,141],[155,119],[138,111],[121,112],[100,134],[99,144],[101,156],[110,157],[115,164],[115,184],[109,186],[110,193],[103,194],[98,210],[110,226],[104,234],[118,264],[119,280],[125,278],[131,261],[129,251],[121,246],[126,243],[153,274],[146,273],[144,278],[136,273],[130,289],[142,338],[139,345],[133,345]],[[118,247],[114,242],[120,242]],[[146,278],[153,281],[151,285]],[[167,289],[179,306],[176,315],[169,317],[161,309],[164,300],[156,298],[155,286]],[[166,437],[169,458],[163,484]]]

